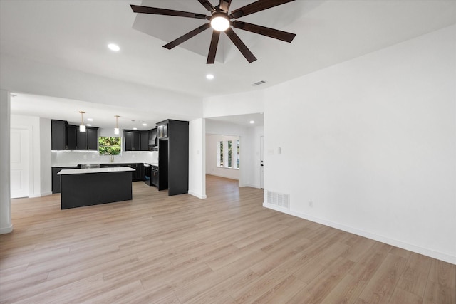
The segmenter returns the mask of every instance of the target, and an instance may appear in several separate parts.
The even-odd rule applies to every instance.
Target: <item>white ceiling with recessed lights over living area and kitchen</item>
[[[252,1],[232,0],[231,9]],[[204,20],[135,14],[130,4],[208,14],[197,0],[0,0],[0,52],[204,98],[262,90],[456,23],[456,1],[452,0],[296,0],[239,19],[296,33],[292,43],[234,29],[258,60],[248,63],[224,39],[216,63],[206,65],[210,30],[172,50],[162,48]],[[106,47],[111,42],[120,46],[118,53]],[[207,73],[215,78],[207,80]],[[259,80],[266,83],[252,86]],[[32,95],[17,95],[14,100],[34,102]],[[14,100],[13,113],[33,108],[25,101],[16,108]],[[66,103],[59,101],[62,112]],[[68,105],[83,103],[67,101]],[[46,102],[50,104],[43,106]],[[36,111],[49,110],[55,102],[41,100]],[[100,108],[93,103],[81,106],[93,106],[94,113]],[[92,110],[81,106],[76,108]],[[115,115],[118,109],[112,110],[110,114]],[[133,110],[126,113],[133,120],[151,123],[162,118]]]

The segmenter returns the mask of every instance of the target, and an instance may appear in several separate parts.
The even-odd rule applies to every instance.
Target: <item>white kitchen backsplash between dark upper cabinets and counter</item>
[[[106,164],[111,160],[108,156],[100,156],[98,151],[51,151],[52,167],[65,167],[77,164]],[[114,157],[114,163],[157,163],[158,152],[122,152]]]

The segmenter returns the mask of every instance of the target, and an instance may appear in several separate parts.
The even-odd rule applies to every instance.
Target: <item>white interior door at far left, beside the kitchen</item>
[[[11,128],[11,199],[28,196],[28,129]]]

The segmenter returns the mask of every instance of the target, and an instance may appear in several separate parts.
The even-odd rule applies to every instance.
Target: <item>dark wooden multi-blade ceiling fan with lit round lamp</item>
[[[281,41],[291,42],[293,41],[295,33],[288,33],[286,31],[279,31],[274,28],[266,28],[265,26],[258,26],[256,24],[247,23],[238,21],[238,18],[243,16],[247,16],[249,14],[257,13],[258,11],[264,11],[265,9],[270,9],[274,6],[279,6],[281,4],[286,4],[287,2],[291,2],[294,0],[258,0],[253,2],[252,4],[247,4],[246,6],[242,6],[239,9],[235,9],[234,11],[229,14],[229,5],[231,4],[232,0],[220,0],[219,5],[212,6],[209,0],[198,0],[204,8],[207,9],[211,13],[211,16],[206,16],[204,14],[197,14],[197,13],[190,13],[187,11],[175,11],[172,9],[159,9],[155,7],[149,6],[139,6],[139,5],[130,5],[131,8],[135,13],[142,13],[142,14],[155,14],[155,15],[167,15],[167,16],[177,16],[177,17],[187,17],[187,18],[196,18],[196,19],[205,19],[209,20],[209,23],[205,23],[198,28],[186,33],[183,36],[171,41],[170,43],[165,44],[164,48],[168,50],[174,48],[175,46],[179,46],[180,43],[187,41],[188,39],[196,36],[197,34],[201,33],[202,31],[207,30],[207,28],[212,27],[212,39],[209,46],[209,53],[207,54],[207,64],[214,63],[215,55],[217,53],[217,45],[219,43],[219,36],[221,32],[227,34],[228,38],[234,43],[242,55],[252,63],[257,60],[254,54],[247,48],[247,46],[242,42],[242,40],[234,33],[233,29],[231,28],[239,28],[244,31],[249,31],[252,33],[258,33],[263,36],[279,39]]]

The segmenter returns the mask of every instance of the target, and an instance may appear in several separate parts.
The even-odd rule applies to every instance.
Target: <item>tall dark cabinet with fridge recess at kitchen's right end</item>
[[[157,123],[158,189],[168,189],[170,196],[188,193],[188,130],[187,121],[165,120]],[[160,135],[163,136],[160,138]]]

